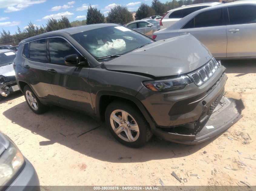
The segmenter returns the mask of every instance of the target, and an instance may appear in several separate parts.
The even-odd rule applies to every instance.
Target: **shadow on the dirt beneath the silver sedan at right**
[[[248,73],[256,73],[256,59],[222,60],[221,64],[227,68],[226,73],[237,73],[237,77]]]

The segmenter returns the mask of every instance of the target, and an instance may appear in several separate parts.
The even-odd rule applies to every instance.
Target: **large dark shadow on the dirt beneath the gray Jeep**
[[[199,145],[181,145],[153,137],[142,148],[135,149],[117,142],[105,123],[61,107],[54,106],[47,113],[37,115],[28,108],[26,102],[22,102],[6,110],[3,115],[12,123],[48,139],[38,140],[38,147],[59,143],[88,157],[109,162],[143,162],[185,157],[212,141],[211,139]],[[94,130],[87,132],[91,129]]]

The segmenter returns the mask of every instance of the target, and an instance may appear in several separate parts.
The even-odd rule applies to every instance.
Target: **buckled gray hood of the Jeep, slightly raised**
[[[105,66],[108,70],[164,77],[194,71],[211,57],[200,41],[187,34],[151,43],[105,62]]]

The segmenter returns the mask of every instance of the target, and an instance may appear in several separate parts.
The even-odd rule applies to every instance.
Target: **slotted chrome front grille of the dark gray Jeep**
[[[197,86],[201,86],[204,84],[211,76],[215,73],[215,71],[220,67],[220,63],[212,58],[207,64],[198,68],[196,72],[189,74],[192,78],[193,82]]]

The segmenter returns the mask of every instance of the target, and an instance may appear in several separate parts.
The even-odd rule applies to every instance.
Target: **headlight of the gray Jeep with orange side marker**
[[[178,78],[171,78],[165,80],[145,81],[143,84],[152,91],[173,91],[181,90],[186,85],[191,84],[192,81],[188,76],[181,76]]]

